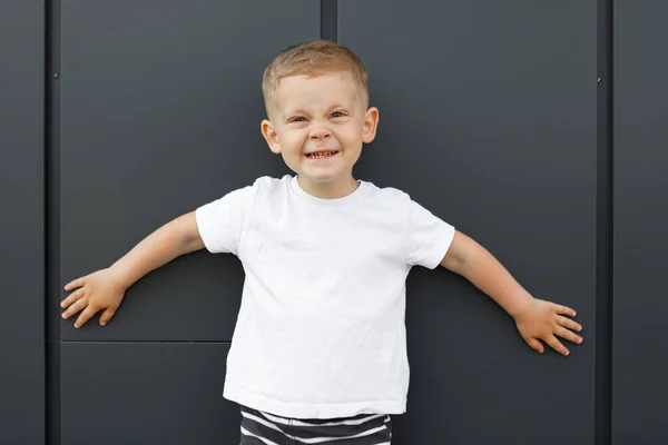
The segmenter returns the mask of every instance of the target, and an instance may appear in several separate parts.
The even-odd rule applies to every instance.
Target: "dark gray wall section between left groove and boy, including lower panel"
[[[259,134],[262,73],[320,37],[318,2],[63,0],[60,27],[62,284],[287,172]],[[62,444],[238,441],[222,390],[242,284],[235,257],[200,251],[130,288],[107,327],[62,322]]]

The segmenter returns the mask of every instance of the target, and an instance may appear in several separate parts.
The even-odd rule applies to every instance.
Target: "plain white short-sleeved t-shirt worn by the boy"
[[[223,395],[294,418],[405,412],[405,279],[454,227],[393,188],[340,199],[259,178],[196,210],[207,250],[245,270]]]

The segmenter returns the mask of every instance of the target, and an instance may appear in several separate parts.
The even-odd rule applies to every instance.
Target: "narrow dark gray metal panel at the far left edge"
[[[45,2],[0,2],[0,442],[45,443]]]

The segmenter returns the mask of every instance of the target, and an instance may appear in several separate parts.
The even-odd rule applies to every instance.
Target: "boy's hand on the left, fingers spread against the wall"
[[[68,319],[81,312],[75,327],[79,328],[86,324],[98,312],[104,310],[100,316],[100,326],[105,326],[120,306],[127,287],[114,275],[111,269],[106,268],[95,271],[65,286],[65,290],[71,293],[60,303],[60,307],[67,309],[62,318]]]

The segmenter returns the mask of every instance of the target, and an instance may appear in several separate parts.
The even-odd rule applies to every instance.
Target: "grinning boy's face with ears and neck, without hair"
[[[311,192],[331,197],[351,192],[353,166],[362,144],[375,137],[379,111],[365,109],[361,89],[347,71],[281,80],[271,120],[262,132],[269,148],[299,176]]]

